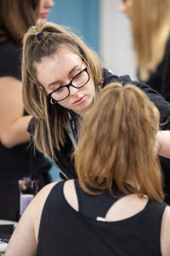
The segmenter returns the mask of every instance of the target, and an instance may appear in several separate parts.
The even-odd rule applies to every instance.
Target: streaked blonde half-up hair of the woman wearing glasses
[[[68,109],[59,104],[50,104],[47,93],[40,89],[42,84],[37,81],[34,64],[42,61],[44,56],[54,55],[61,45],[79,55],[85,62],[91,79],[94,80],[96,96],[99,85],[103,82],[103,68],[99,57],[68,28],[38,20],[36,26],[31,26],[26,32],[22,58],[23,101],[27,113],[35,118],[34,142],[37,149],[51,155],[53,160],[54,148],[59,150],[65,143]]]

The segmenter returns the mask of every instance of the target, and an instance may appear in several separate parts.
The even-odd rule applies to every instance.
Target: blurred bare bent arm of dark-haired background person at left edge
[[[23,116],[23,112],[20,80],[14,77],[0,78],[0,141],[6,148],[30,140],[26,129],[31,116]]]

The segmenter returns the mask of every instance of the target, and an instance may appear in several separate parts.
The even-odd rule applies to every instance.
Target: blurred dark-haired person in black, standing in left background
[[[31,115],[24,110],[21,84],[22,38],[37,18],[48,14],[53,1],[1,0],[0,8],[0,219],[18,220],[18,180],[30,176],[39,189],[50,182],[49,161],[28,148]],[[44,18],[45,16],[43,16]]]

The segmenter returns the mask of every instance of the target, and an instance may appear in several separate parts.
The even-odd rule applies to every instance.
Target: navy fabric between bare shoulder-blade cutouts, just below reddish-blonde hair
[[[105,218],[106,212],[122,195],[117,193],[117,197],[113,197],[108,190],[102,191],[99,195],[90,195],[81,188],[78,179],[75,179],[74,183],[79,212],[88,218]]]

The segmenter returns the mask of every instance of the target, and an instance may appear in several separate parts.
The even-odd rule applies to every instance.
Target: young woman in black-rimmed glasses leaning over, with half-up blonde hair
[[[169,103],[155,90],[127,75],[110,73],[80,38],[51,22],[38,21],[26,33],[22,78],[26,111],[34,117],[29,131],[35,145],[52,157],[61,177],[68,179],[77,177],[71,155],[77,148],[84,116],[107,84],[131,82],[144,90],[160,110],[161,122],[167,121],[170,113]],[[169,125],[167,122],[163,129]]]

